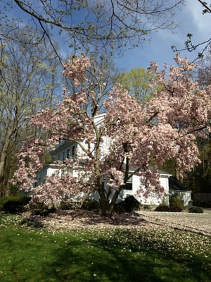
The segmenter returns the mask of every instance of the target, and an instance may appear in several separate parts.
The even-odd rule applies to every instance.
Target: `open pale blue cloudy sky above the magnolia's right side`
[[[126,51],[122,58],[115,59],[115,64],[124,71],[136,67],[147,68],[151,61],[156,61],[159,68],[162,68],[164,63],[167,63],[168,66],[174,64],[174,53],[171,46],[183,49],[188,33],[193,35],[192,39],[195,44],[210,38],[211,14],[203,15],[202,11],[203,8],[197,0],[187,0],[186,6],[177,10],[174,17],[174,20],[180,23],[180,27],[174,30],[174,33],[170,30],[153,33],[151,42],[145,42],[143,47]],[[180,56],[187,56],[189,60],[193,60],[197,52],[182,51]]]

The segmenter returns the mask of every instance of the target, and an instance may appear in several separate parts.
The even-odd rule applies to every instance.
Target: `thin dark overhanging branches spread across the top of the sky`
[[[104,51],[139,46],[151,32],[176,27],[172,17],[185,1],[1,0],[1,3],[3,11],[14,13],[14,8],[15,13],[20,11],[21,20],[27,20],[28,16],[40,32],[37,41],[49,41],[58,56],[53,44],[54,36],[58,35],[73,51],[82,49],[85,52],[95,46]],[[7,14],[3,11],[1,17],[4,19]]]

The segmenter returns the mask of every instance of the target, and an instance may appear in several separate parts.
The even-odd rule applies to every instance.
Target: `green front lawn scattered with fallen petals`
[[[53,233],[0,214],[0,243],[1,282],[211,281],[211,238],[172,228]]]

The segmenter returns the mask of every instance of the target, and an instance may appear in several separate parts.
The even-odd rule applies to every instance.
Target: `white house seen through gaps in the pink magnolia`
[[[96,123],[99,125],[101,121],[103,121],[103,114],[98,115],[96,117]],[[108,142],[103,142],[103,151],[108,149],[108,146],[106,147],[106,144]],[[77,151],[77,154],[76,154]],[[65,140],[60,140],[58,145],[56,146],[56,149],[52,152],[53,160],[54,161],[65,161],[65,159],[69,159],[70,157],[78,157],[80,156],[80,151],[82,149],[77,146],[76,142],[68,142]],[[131,173],[133,173],[135,170],[131,168]],[[37,173],[37,185],[40,185],[44,182],[45,178],[47,176],[51,176],[54,173],[58,173],[59,176],[61,176],[63,173],[72,173],[72,176],[77,176],[77,171],[71,170],[71,171],[63,171],[58,165],[56,164],[46,164],[44,168]],[[165,190],[165,194],[169,194],[169,177],[171,176],[169,173],[166,173],[165,171],[158,171],[160,173],[160,184]],[[131,178],[129,178],[129,181],[126,185],[124,185],[124,189],[119,195],[118,202],[121,200],[124,200],[125,197],[128,195],[134,195],[139,202],[142,204],[155,204],[158,205],[160,202],[162,202],[163,199],[159,199],[155,195],[152,195],[151,197],[145,198],[143,195],[137,194],[137,192],[140,190],[141,180],[140,176],[133,175]],[[168,202],[168,199],[167,199]]]

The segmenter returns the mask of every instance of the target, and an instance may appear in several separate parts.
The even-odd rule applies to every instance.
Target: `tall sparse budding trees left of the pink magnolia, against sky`
[[[24,44],[30,35],[25,28],[16,30],[8,27],[12,39],[0,42],[0,195],[10,193],[9,183],[16,164],[16,154],[27,135],[34,129],[30,127],[27,116],[38,109],[53,105],[53,92],[56,83],[58,62],[52,60],[51,51],[45,51],[43,44]],[[13,29],[13,32],[11,30]],[[4,27],[4,31],[6,28]],[[13,33],[13,34],[12,34]]]

